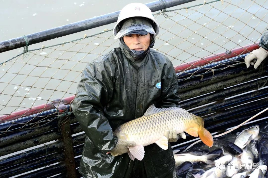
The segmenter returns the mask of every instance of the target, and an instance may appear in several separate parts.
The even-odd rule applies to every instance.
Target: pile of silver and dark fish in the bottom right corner
[[[180,154],[173,150],[177,176],[268,178],[268,133],[260,132],[259,126],[252,126],[238,133],[235,141],[225,139],[214,139],[210,150],[195,147]]]

